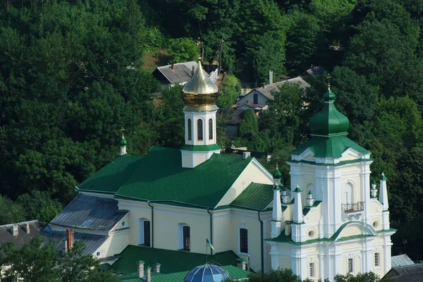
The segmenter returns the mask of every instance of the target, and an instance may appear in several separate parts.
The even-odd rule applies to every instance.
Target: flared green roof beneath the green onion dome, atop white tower
[[[331,157],[339,159],[342,157],[343,152],[347,149],[352,148],[362,154],[370,154],[367,149],[364,149],[353,140],[350,140],[346,136],[337,137],[324,137],[324,136],[312,136],[304,144],[300,145],[298,149],[293,150],[290,154],[300,155],[306,149],[310,149],[314,153],[314,157],[325,158]]]

